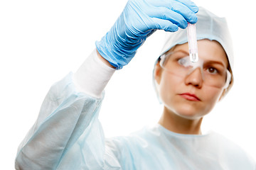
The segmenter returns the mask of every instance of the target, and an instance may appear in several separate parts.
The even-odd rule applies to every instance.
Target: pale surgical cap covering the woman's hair
[[[196,35],[198,40],[208,39],[216,40],[223,46],[230,64],[231,70],[234,67],[233,43],[228,30],[228,23],[225,18],[215,16],[215,14],[206,10],[206,8],[199,7],[196,14],[198,22],[196,23]],[[179,28],[174,33],[166,33],[166,42],[161,50],[161,55],[169,51],[175,45],[188,42],[186,29]]]

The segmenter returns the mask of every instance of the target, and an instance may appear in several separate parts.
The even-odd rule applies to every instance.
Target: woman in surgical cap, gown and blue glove
[[[203,115],[233,83],[233,53],[225,20],[197,11],[191,1],[128,1],[78,72],[51,87],[18,149],[16,169],[256,169],[240,147],[214,132],[201,134]],[[197,22],[196,64],[187,57],[186,30],[178,30],[187,22]],[[102,91],[156,29],[178,30],[169,33],[154,69],[164,113],[154,128],[105,139]]]

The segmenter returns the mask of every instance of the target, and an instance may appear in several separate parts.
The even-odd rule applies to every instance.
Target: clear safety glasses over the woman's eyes
[[[201,58],[198,62],[191,62],[187,52],[166,52],[160,57],[160,65],[178,77],[200,74],[203,82],[208,86],[227,88],[230,84],[231,74],[223,64],[215,61],[204,61]],[[200,72],[196,72],[196,70]]]

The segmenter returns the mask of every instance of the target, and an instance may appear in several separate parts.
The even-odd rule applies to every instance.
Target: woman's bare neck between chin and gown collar
[[[182,118],[176,113],[169,111],[167,108],[164,108],[164,113],[161,115],[159,124],[171,132],[201,135],[202,120],[203,118],[195,120]]]

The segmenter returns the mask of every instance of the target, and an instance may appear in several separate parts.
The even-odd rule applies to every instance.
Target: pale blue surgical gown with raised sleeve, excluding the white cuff
[[[156,124],[105,139],[98,119],[103,96],[79,91],[73,73],[55,83],[18,148],[16,169],[256,169],[248,154],[215,132],[181,135]]]

